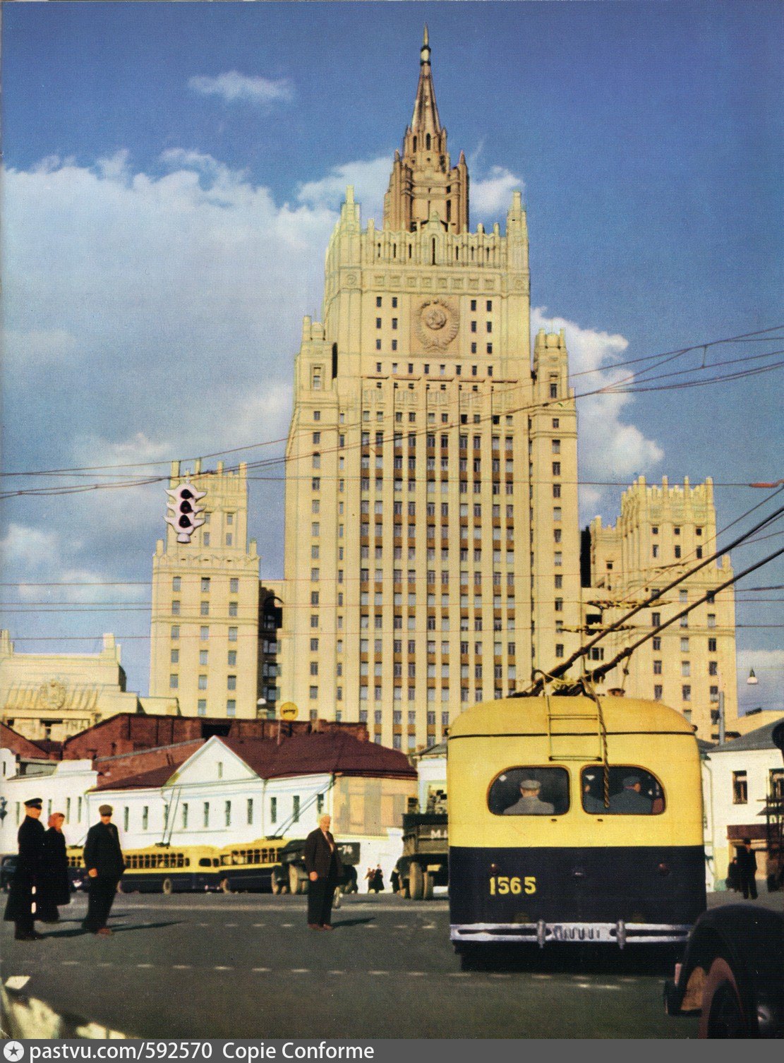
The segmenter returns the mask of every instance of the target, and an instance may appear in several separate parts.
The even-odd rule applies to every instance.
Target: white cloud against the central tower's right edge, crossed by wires
[[[531,311],[534,334],[564,331],[569,354],[569,372],[587,373],[573,381],[576,393],[594,391],[617,379],[621,372],[613,366],[628,348],[628,340],[617,333],[583,328],[565,318],[548,317],[546,307]],[[628,394],[596,394],[578,399],[579,467],[581,480],[624,480],[631,483],[638,473],[649,473],[664,457],[653,439],[647,439],[629,421]],[[580,490],[581,520],[590,520],[602,502],[612,509],[619,506],[620,489],[583,486]]]

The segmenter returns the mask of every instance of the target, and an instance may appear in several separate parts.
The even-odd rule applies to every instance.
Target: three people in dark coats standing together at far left
[[[57,923],[58,909],[70,904],[71,882],[68,873],[65,815],[53,812],[49,829],[40,815],[44,802],[31,797],[24,802],[24,820],[17,841],[19,856],[8,889],[5,922],[15,924],[17,941],[37,941],[41,935],[35,924]],[[90,827],[84,845],[84,865],[89,880],[87,915],[82,927],[91,933],[110,934],[106,926],[117,885],[124,871],[117,827],[112,823],[112,806],[101,805],[100,823]]]

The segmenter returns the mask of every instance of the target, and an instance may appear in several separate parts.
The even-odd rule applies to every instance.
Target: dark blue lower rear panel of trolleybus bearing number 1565
[[[449,847],[453,926],[693,924],[704,909],[702,846]]]

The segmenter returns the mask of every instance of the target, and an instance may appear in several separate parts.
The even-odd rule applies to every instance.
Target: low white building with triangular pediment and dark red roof
[[[114,807],[129,849],[304,838],[327,812],[336,838],[360,843],[360,866],[380,863],[389,875],[415,792],[403,754],[327,732],[280,744],[212,737],[180,766],[102,781],[87,796],[91,810]]]

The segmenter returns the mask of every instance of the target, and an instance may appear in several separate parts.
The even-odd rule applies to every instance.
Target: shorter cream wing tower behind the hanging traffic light
[[[205,523],[191,541],[169,526],[153,558],[150,693],[176,696],[185,715],[255,719],[258,711],[259,578],[248,540],[246,468],[192,475],[171,467],[170,487],[205,491]]]

